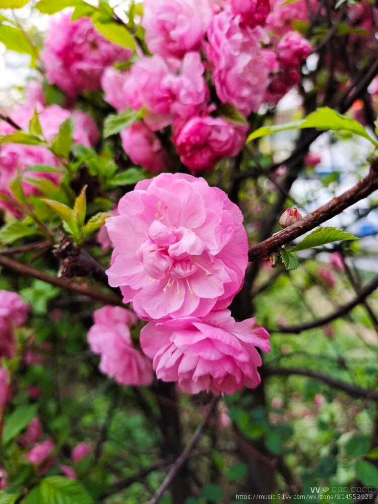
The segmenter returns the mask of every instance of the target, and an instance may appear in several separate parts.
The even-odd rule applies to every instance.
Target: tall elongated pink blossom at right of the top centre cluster
[[[245,116],[258,111],[269,84],[269,68],[261,50],[264,36],[258,28],[241,29],[237,17],[227,11],[213,17],[207,32],[205,53],[218,98]]]

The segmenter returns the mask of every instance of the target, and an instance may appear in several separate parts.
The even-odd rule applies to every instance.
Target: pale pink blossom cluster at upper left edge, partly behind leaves
[[[32,101],[32,100],[37,101]],[[95,121],[81,110],[67,110],[58,105],[45,106],[40,84],[36,83],[33,93],[27,96],[27,101],[19,105],[9,115],[23,130],[28,130],[29,121],[34,108],[38,111],[38,118],[44,138],[51,141],[58,133],[60,125],[69,117],[74,122],[73,140],[77,144],[93,147],[99,139],[99,131]],[[14,128],[5,121],[0,122],[0,134],[9,135]],[[30,171],[29,168],[47,165],[57,171]],[[59,184],[62,174],[59,172],[60,162],[47,148],[38,145],[24,145],[7,143],[0,146],[0,207],[11,212],[15,217],[22,216],[22,208],[17,203],[10,188],[10,182],[21,173],[29,179],[22,181],[22,188],[27,197],[40,194],[32,179],[46,179],[53,184]],[[28,170],[27,172],[25,170]],[[30,180],[31,179],[31,180]]]

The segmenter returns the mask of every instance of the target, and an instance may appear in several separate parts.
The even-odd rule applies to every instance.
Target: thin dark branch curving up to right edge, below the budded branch
[[[323,317],[321,319],[317,319],[311,322],[305,322],[304,324],[300,324],[298,326],[287,326],[287,327],[280,327],[279,329],[273,329],[270,332],[272,333],[285,333],[285,334],[299,334],[302,331],[307,331],[308,329],[314,329],[316,327],[320,326],[325,326],[326,324],[329,324],[333,320],[338,319],[339,317],[344,316],[346,313],[348,313],[351,309],[353,309],[355,306],[358,304],[361,304],[364,302],[367,296],[369,296],[374,290],[378,288],[378,276],[376,276],[371,282],[369,282],[367,285],[362,287],[359,291],[359,294],[349,301],[346,304],[343,304],[340,306],[336,311],[331,313],[330,315],[327,315],[326,317]]]

